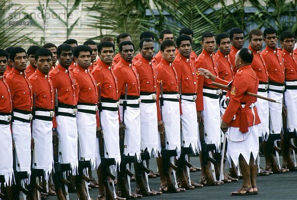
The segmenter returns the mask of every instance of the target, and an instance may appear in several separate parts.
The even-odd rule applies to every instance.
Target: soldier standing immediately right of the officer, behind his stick
[[[267,97],[268,93],[268,72],[265,61],[261,55],[263,45],[263,33],[259,29],[253,29],[248,35],[249,47],[248,49],[253,52],[253,60],[251,62],[251,68],[255,71],[258,79],[258,95]],[[267,139],[269,136],[269,105],[267,100],[258,99],[255,102],[260,117],[261,123],[259,124],[259,138],[262,141],[262,150],[265,156],[265,160],[270,160],[267,146]],[[259,143],[261,145],[261,143]],[[259,146],[260,147],[260,146]],[[265,176],[272,173],[260,168],[259,175]]]

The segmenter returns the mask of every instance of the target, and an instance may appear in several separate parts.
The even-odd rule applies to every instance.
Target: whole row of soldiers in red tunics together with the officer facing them
[[[248,49],[241,29],[216,38],[207,32],[199,56],[192,50],[193,35],[183,28],[175,43],[170,30],[162,31],[155,56],[149,32],[141,34],[136,56],[127,33],[117,37],[116,55],[111,37],[99,45],[88,40],[78,46],[70,39],[27,52],[0,50],[0,180],[7,189],[0,198],[18,199],[21,191],[24,199],[40,199],[45,189],[68,199],[73,183],[83,200],[90,199],[88,186],[99,188],[98,199],[130,199],[237,181],[240,173],[243,187],[232,195],[247,195],[258,193],[257,169],[260,175],[295,170],[289,148],[297,129],[294,34],[281,34],[281,50],[273,28],[250,31]],[[266,48],[260,52],[263,42]],[[222,92],[212,81],[232,89]],[[281,103],[256,101],[246,91]],[[223,133],[228,150],[221,155]],[[259,144],[265,169],[256,165]],[[282,166],[273,150],[282,152]],[[190,178],[191,153],[200,155],[199,183]],[[148,175],[158,175],[148,169],[151,156],[157,159],[158,191],[148,185]],[[231,176],[219,169],[225,156]],[[92,169],[97,169],[98,183]],[[50,177],[55,192],[45,184]]]

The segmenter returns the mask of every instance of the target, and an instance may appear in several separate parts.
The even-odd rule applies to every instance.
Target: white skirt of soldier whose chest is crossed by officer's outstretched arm
[[[221,115],[219,99],[203,96],[202,117],[206,144],[215,144],[217,151],[221,146]]]

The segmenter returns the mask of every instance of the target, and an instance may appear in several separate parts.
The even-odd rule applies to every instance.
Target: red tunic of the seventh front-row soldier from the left
[[[121,99],[124,99],[126,84],[128,85],[128,96],[140,96],[139,76],[134,64],[121,58],[114,67],[114,74],[118,80],[119,98],[122,96]]]

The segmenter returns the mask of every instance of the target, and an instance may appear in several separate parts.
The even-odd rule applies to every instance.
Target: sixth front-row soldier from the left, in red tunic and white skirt
[[[118,86],[112,67],[114,44],[110,42],[101,42],[98,45],[98,50],[99,63],[92,72],[94,79],[100,87],[101,108],[99,111],[101,127],[99,126],[97,131],[99,132],[101,129],[104,130],[104,155],[106,158],[115,159],[116,165],[113,168],[113,171],[115,171],[120,165],[121,155],[119,148]],[[102,171],[106,169],[103,168],[100,162],[98,142],[96,142],[96,163],[99,182],[98,198],[106,199],[106,191],[108,188],[104,187],[104,177],[102,177]],[[120,198],[118,197],[117,199]]]

